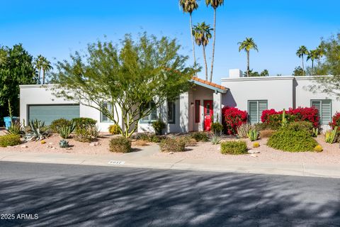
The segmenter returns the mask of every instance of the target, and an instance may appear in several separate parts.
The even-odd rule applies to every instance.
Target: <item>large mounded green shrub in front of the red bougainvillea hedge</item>
[[[317,145],[308,131],[295,131],[289,128],[280,128],[269,138],[267,145],[278,150],[290,152],[312,151]]]

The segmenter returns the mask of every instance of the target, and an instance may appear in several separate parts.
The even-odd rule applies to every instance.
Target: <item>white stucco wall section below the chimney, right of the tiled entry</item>
[[[249,100],[268,100],[268,109],[288,109],[293,103],[294,77],[242,77],[222,79],[229,91],[222,96],[222,107],[248,111]]]

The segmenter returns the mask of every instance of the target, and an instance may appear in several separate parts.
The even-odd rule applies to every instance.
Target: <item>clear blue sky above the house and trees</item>
[[[204,2],[199,1],[193,22],[212,24],[213,11]],[[271,75],[291,74],[300,65],[295,55],[300,45],[312,49],[321,37],[339,32],[339,7],[334,0],[225,1],[217,9],[213,80],[219,83],[231,68],[245,70],[246,55],[238,51],[237,43],[246,37],[254,38],[259,47],[259,52],[251,52],[251,68],[267,69]],[[0,45],[23,43],[32,55],[45,55],[52,62],[67,59],[70,52],[84,50],[104,35],[118,42],[125,33],[142,31],[177,38],[181,52],[191,57],[188,14],[180,11],[177,0],[1,2]],[[210,66],[210,48],[207,51]],[[201,48],[196,47],[196,52],[203,65]]]

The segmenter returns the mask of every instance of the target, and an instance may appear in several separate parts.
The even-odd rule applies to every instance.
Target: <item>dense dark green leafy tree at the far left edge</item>
[[[19,114],[19,84],[36,84],[33,57],[23,48],[0,46],[0,117],[8,116],[8,99],[13,115]]]

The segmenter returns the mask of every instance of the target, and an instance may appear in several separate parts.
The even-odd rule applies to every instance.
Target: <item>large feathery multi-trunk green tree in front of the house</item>
[[[125,35],[120,45],[89,44],[84,55],[75,52],[70,61],[57,62],[55,95],[98,109],[130,137],[140,118],[191,87],[194,70],[186,66],[188,56],[179,55],[180,48],[176,40],[146,33],[137,41]],[[117,108],[111,111],[103,101]],[[149,102],[154,103],[150,109]]]

